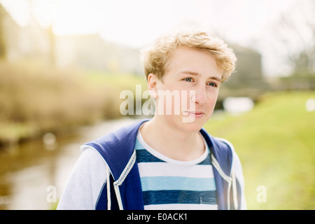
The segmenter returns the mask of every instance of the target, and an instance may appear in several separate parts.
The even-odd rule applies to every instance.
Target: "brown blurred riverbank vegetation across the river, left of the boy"
[[[58,70],[34,62],[0,62],[0,148],[120,118],[120,92],[142,76]]]

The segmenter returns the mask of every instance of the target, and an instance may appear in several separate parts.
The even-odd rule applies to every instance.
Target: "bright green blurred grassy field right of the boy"
[[[248,209],[315,209],[315,111],[305,109],[309,98],[315,92],[265,94],[252,111],[214,115],[205,125],[235,146]],[[259,186],[265,202],[257,200]]]

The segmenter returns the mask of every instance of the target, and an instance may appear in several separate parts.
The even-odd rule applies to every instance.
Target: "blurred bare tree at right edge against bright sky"
[[[274,23],[274,38],[292,66],[293,76],[315,76],[314,12],[315,1],[297,1]]]

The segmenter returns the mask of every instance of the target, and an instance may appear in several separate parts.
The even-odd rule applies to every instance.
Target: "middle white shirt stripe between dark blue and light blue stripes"
[[[168,162],[140,162],[140,176],[184,176],[192,178],[214,178],[211,165],[178,166]]]

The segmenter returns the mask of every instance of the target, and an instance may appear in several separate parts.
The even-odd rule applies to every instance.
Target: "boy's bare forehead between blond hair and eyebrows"
[[[166,73],[191,71],[202,76],[218,76],[218,78],[223,74],[213,55],[206,50],[190,47],[175,48],[165,68]]]

